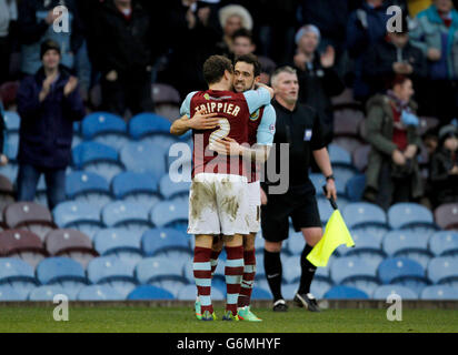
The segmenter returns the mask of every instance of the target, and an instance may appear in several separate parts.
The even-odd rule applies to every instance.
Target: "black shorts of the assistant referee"
[[[321,227],[315,195],[316,191],[310,180],[305,185],[290,186],[285,194],[268,194],[267,204],[261,207],[263,239],[268,242],[288,239],[289,217],[296,232],[307,227]]]

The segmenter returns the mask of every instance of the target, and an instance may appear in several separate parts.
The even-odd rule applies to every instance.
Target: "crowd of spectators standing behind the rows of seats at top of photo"
[[[209,55],[233,59],[255,53],[262,63],[265,83],[280,65],[298,70],[300,101],[318,112],[328,144],[333,139],[331,99],[351,90],[366,115],[366,140],[372,146],[366,200],[387,207],[441,189],[430,199],[437,205],[458,200],[456,2],[0,0],[0,84],[21,82],[17,104],[28,122],[21,132],[30,131],[29,121],[38,120],[29,118],[33,114],[40,113],[43,122],[51,116],[64,120],[69,95],[73,115],[81,116],[74,106],[81,99],[87,111],[109,111],[128,120],[155,111],[152,83],[170,84],[183,99],[190,91],[206,89],[201,68]],[[62,13],[53,11],[62,4],[68,9],[68,26]],[[389,6],[402,10],[399,32],[387,31]],[[47,41],[52,48],[50,40],[59,47],[60,68],[51,79],[43,70],[42,52]],[[71,91],[60,101],[52,97],[53,104],[61,105],[59,114],[44,118],[34,106],[46,100],[39,98],[43,87],[50,92],[56,87],[64,90],[67,81]],[[100,89],[101,102],[92,99],[94,88]],[[437,118],[439,124],[420,136],[419,116]],[[48,140],[48,126],[37,123],[33,130],[42,131],[33,131],[33,139]],[[21,136],[20,146],[33,139]],[[416,163],[421,149],[431,164],[428,184]],[[23,149],[20,152],[24,154]],[[1,163],[6,163],[3,156]]]

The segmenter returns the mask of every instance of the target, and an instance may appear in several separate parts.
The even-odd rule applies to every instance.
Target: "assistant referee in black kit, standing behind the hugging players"
[[[309,180],[310,158],[313,158],[326,176],[328,197],[337,199],[335,179],[326,149],[325,130],[316,111],[298,102],[299,83],[296,70],[290,67],[277,69],[271,77],[275,90],[272,105],[277,112],[275,149],[270,154],[262,182],[261,227],[265,241],[265,270],[273,295],[273,311],[286,312],[288,305],[281,295],[282,267],[280,251],[282,241],[288,239],[289,217],[296,232],[301,231],[306,246],[300,257],[301,277],[293,302],[309,311],[319,312],[318,303],[310,293],[310,284],[316,267],[306,258],[322,236],[315,187]],[[280,181],[269,181],[269,164],[276,164],[277,173],[285,156],[280,154],[280,143],[289,143],[289,169],[280,172]],[[272,165],[270,165],[272,166]],[[288,181],[281,181],[288,179]],[[288,183],[286,193],[275,193],[275,185]],[[272,193],[273,192],[273,193]]]

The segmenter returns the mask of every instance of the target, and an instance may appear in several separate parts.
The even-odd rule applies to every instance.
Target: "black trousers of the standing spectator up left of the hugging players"
[[[100,82],[103,109],[123,116],[129,109],[132,115],[152,112],[151,73],[118,73],[118,80]]]

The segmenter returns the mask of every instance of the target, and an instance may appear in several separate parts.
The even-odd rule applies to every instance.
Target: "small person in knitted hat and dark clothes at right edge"
[[[431,202],[458,202],[458,129],[448,124],[439,130],[439,144],[430,162]]]

